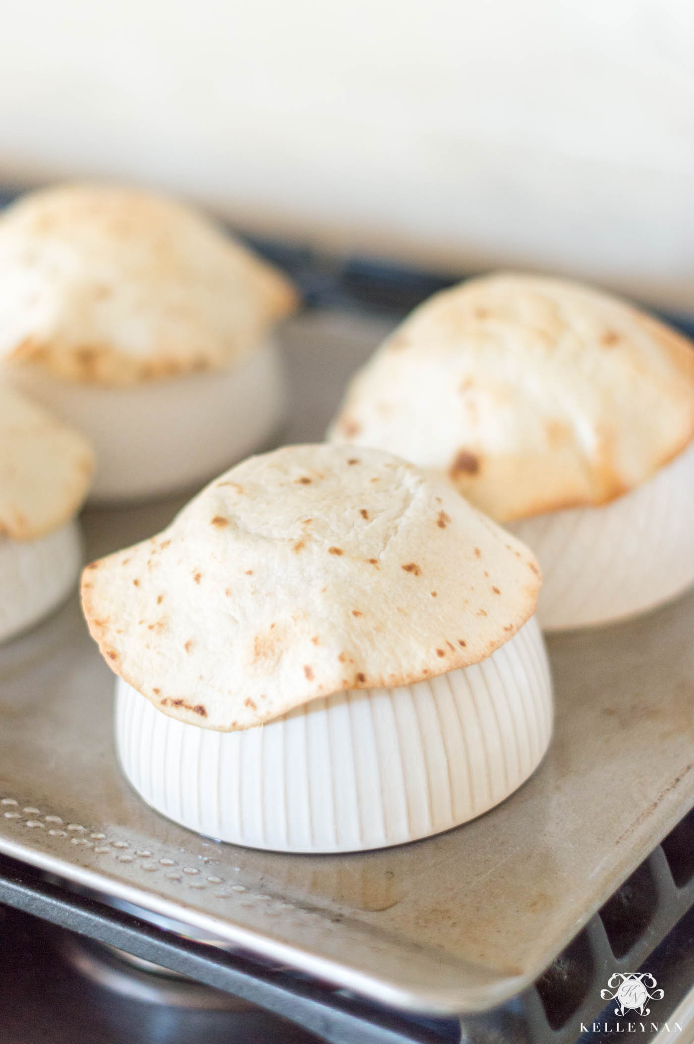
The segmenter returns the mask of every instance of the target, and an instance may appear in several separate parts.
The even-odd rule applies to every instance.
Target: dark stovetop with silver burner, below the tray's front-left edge
[[[2,1044],[319,1044],[226,993],[0,906]],[[20,959],[18,959],[18,955]]]

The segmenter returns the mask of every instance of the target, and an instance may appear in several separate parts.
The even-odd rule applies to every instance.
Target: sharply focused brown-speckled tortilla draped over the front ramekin
[[[477,663],[540,585],[532,553],[445,481],[376,450],[292,446],[88,566],[82,604],[116,673],[164,713],[230,731]]]

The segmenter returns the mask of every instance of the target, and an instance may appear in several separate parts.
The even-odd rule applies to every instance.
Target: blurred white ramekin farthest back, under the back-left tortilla
[[[83,432],[96,452],[89,502],[191,489],[261,449],[280,425],[285,382],[272,340],[223,370],[124,387],[8,367],[23,392]]]

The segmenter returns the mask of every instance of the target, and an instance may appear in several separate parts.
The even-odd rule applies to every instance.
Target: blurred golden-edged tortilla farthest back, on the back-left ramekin
[[[296,304],[276,268],[161,196],[62,186],[0,217],[0,362],[107,385],[219,369]]]

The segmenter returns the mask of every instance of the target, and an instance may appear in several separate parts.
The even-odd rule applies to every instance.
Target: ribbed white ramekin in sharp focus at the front
[[[117,684],[118,754],[142,798],[198,833],[282,852],[385,848],[465,823],[530,776],[551,730],[534,617],[480,664],[243,732],[184,725]]]

